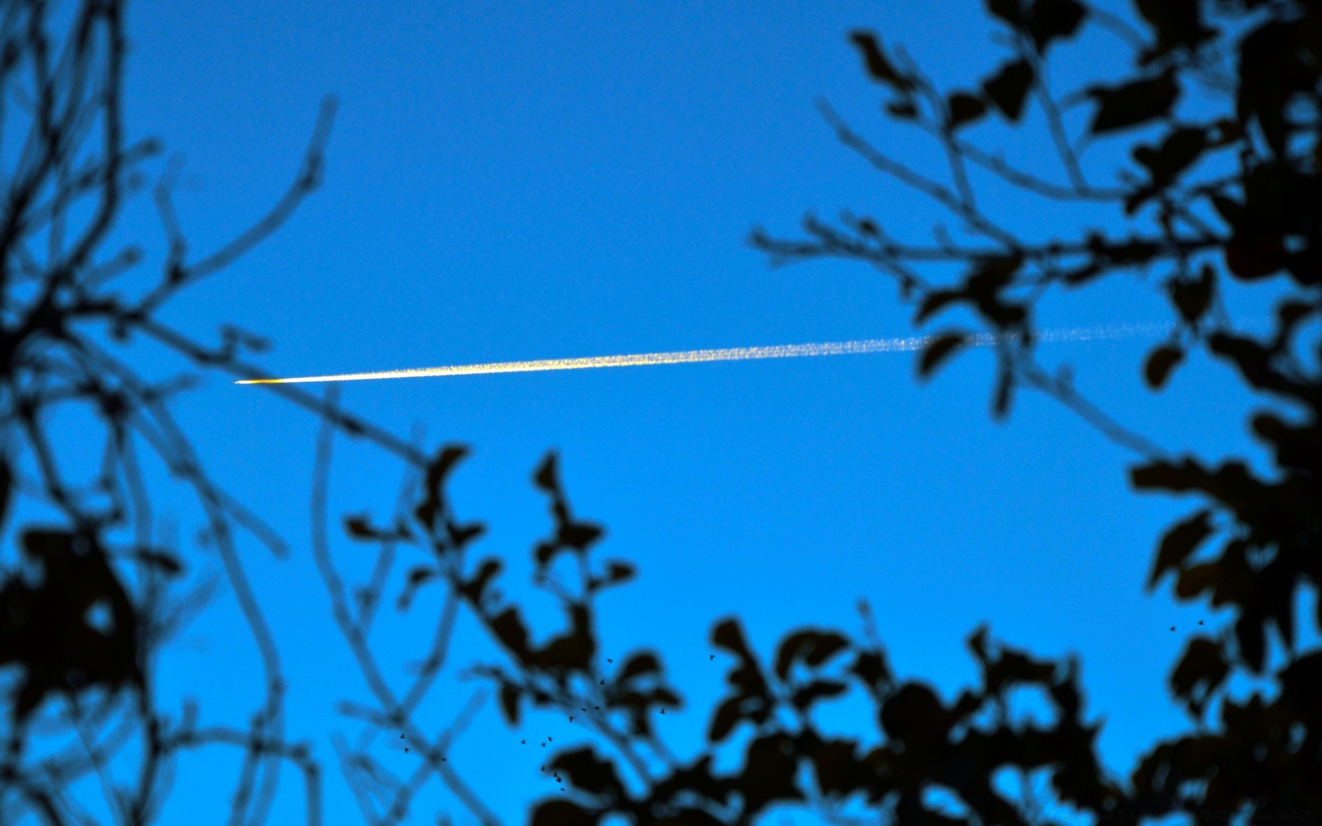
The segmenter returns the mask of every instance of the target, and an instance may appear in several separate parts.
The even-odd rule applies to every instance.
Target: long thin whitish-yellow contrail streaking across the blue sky
[[[1038,341],[1101,341],[1133,338],[1162,333],[1169,324],[1112,324],[1066,330],[1039,330]],[[966,346],[988,348],[1010,338],[1006,333],[970,334]],[[303,375],[297,378],[255,378],[235,385],[295,385],[304,382],[361,382],[374,378],[423,378],[428,375],[481,375],[486,373],[538,373],[542,370],[586,370],[588,367],[632,367],[639,365],[681,365],[698,361],[748,361],[754,358],[793,358],[798,356],[846,356],[850,353],[899,353],[921,350],[936,336],[911,338],[865,338],[824,344],[781,344],[764,348],[724,348],[719,350],[680,350],[676,353],[635,353],[631,356],[591,356],[586,358],[543,358],[538,361],[500,361],[486,365],[453,365],[414,370],[379,370],[377,373],[340,373],[336,375]]]

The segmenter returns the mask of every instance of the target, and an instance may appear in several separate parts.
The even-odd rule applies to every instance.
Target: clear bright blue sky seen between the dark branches
[[[746,243],[758,225],[793,235],[806,211],[869,213],[919,241],[945,219],[841,147],[814,110],[825,96],[892,155],[939,172],[924,137],[878,115],[882,95],[846,44],[859,26],[903,42],[943,83],[968,83],[999,59],[973,0],[136,3],[128,128],[185,160],[177,204],[197,254],[279,196],[320,99],[340,102],[324,188],[167,317],[271,337],[262,363],[282,375],[912,334],[882,275],[834,262],[771,270]],[[1113,42],[1089,44],[1066,75],[1116,65]],[[970,135],[1015,147],[995,128]],[[1011,156],[1056,173],[1042,148],[1026,136]],[[1095,170],[1110,180],[1105,164]],[[1006,223],[1029,237],[1076,226],[1072,213],[1001,196]],[[159,260],[147,198],[122,234]],[[1050,304],[1042,324],[1169,313],[1155,278],[1125,279]],[[1050,345],[1043,356],[1073,365],[1084,393],[1169,449],[1255,449],[1241,435],[1245,399],[1200,358],[1163,394],[1142,387],[1153,342]],[[559,619],[527,587],[529,550],[549,525],[529,477],[559,451],[576,513],[608,529],[599,556],[640,568],[598,603],[605,656],[660,649],[689,700],[661,727],[681,755],[722,690],[720,658],[707,656],[718,619],[739,616],[769,657],[804,624],[858,633],[854,604],[866,596],[898,673],[948,699],[976,679],[964,640],[980,622],[1040,656],[1079,652],[1088,714],[1108,720],[1101,752],[1128,773],[1140,747],[1187,727],[1165,687],[1185,640],[1169,628],[1219,621],[1142,589],[1161,530],[1192,504],[1132,494],[1134,457],[1050,399],[1021,395],[1011,419],[994,423],[986,352],[929,383],[914,365],[912,354],[875,354],[360,382],[342,400],[401,435],[424,426],[428,448],[473,447],[451,490],[461,515],[490,527],[476,552],[512,563],[502,591],[545,607],[531,612],[539,634]],[[369,694],[308,550],[316,422],[218,375],[178,412],[215,478],[291,542],[287,560],[255,542],[245,558],[284,654],[291,733],[312,739],[327,768],[327,822],[358,822],[329,732],[357,731],[333,707]],[[385,517],[399,473],[340,441],[333,513]],[[164,515],[190,539],[192,511]],[[365,551],[337,539],[334,552],[353,567]],[[218,570],[202,551],[190,559],[198,575]],[[438,609],[439,592],[423,592],[379,649],[394,662],[420,657]],[[473,690],[457,666],[498,659],[461,622],[428,724],[439,731]],[[242,724],[255,669],[222,596],[163,662],[163,696],[197,695],[204,720]],[[871,741],[874,727],[849,726]],[[584,736],[537,715],[510,731],[492,700],[452,751],[506,822],[554,790],[537,772],[543,749],[518,745],[542,733],[564,745]],[[222,756],[182,764],[167,821],[226,805],[235,770]],[[300,806],[287,772],[272,822]],[[412,822],[439,810],[471,821],[434,781]]]

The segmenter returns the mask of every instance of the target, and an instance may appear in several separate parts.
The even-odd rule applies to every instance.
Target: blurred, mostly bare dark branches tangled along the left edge
[[[176,217],[178,169],[169,164],[152,190],[168,252],[144,287],[126,278],[144,251],[115,247],[114,231],[160,144],[127,143],[126,50],[119,0],[0,4],[0,523],[17,518],[20,505],[33,517],[15,531],[17,552],[7,547],[0,556],[0,822],[93,822],[73,792],[87,778],[100,781],[115,822],[149,822],[175,761],[210,745],[245,755],[234,822],[266,818],[279,761],[301,770],[308,819],[317,822],[320,770],[308,744],[284,737],[280,658],[235,533],[276,554],[286,546],[205,473],[173,419],[171,402],[190,375],[156,381],[140,367],[145,345],[185,365],[267,375],[245,361],[264,349],[263,340],[223,326],[219,342],[206,344],[163,321],[160,311],[275,231],[317,188],[334,103],[323,104],[284,196],[205,255],[190,252]],[[423,461],[408,444],[316,396],[278,391],[334,427]],[[95,426],[61,427],[56,418],[70,410]],[[153,694],[157,654],[210,589],[182,584],[181,548],[153,529],[160,490],[148,482],[143,451],[193,494],[206,523],[202,539],[219,556],[260,654],[264,696],[246,727],[201,727],[196,707],[171,714]],[[70,469],[97,455],[90,478]]]

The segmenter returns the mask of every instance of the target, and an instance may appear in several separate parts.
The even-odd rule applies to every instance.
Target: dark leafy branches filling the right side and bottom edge
[[[899,823],[1055,822],[1043,801],[1009,800],[995,788],[993,774],[1003,768],[1047,769],[1056,800],[1046,802],[1097,819],[1183,813],[1200,823],[1237,817],[1322,822],[1322,650],[1297,650],[1292,613],[1296,592],[1322,583],[1322,346],[1307,352],[1307,330],[1322,316],[1322,4],[1138,0],[1136,8],[1141,28],[1077,0],[988,0],[1009,54],[977,83],[945,94],[903,52],[870,32],[851,33],[867,75],[884,90],[884,114],[940,144],[949,182],[884,155],[826,103],[822,115],[878,170],[953,213],[969,241],[939,231],[935,244],[911,243],[890,235],[882,218],[845,214],[836,223],[805,218],[801,239],[758,230],[752,243],[775,262],[867,263],[896,280],[900,300],[916,309],[916,325],[952,308],[969,309],[995,336],[997,416],[1009,412],[1017,389],[1047,393],[1140,455],[1130,472],[1137,490],[1200,500],[1161,538],[1146,583],[1153,589],[1170,576],[1177,599],[1235,615],[1229,628],[1188,640],[1169,678],[1196,732],[1153,744],[1126,782],[1097,760],[1100,724],[1083,718],[1072,658],[1036,659],[992,642],[978,628],[968,645],[982,683],[947,704],[923,681],[895,677],[875,637],[858,642],[830,629],[793,630],[768,667],[730,619],[711,632],[734,666],[728,693],[710,716],[710,745],[680,761],[652,724],[653,712],[680,704],[660,658],[639,652],[613,670],[598,661],[591,601],[619,578],[586,562],[600,534],[570,515],[550,456],[535,484],[551,497],[555,533],[534,555],[538,564],[564,551],[584,559],[576,593],[557,584],[566,630],[535,645],[517,608],[488,597],[497,559],[484,560],[472,579],[455,578],[513,663],[513,673],[484,671],[500,685],[509,722],[517,724],[525,699],[578,707],[619,752],[558,753],[547,769],[567,777],[568,794],[539,804],[534,825],[598,823],[611,815],[636,823],[747,823],[776,804],[809,805],[832,822],[850,823],[878,813]],[[1046,79],[1051,50],[1084,26],[1113,36],[1130,66],[1122,77],[1062,94]],[[1215,104],[1185,112],[1178,103],[1188,87]],[[1080,136],[1067,128],[1069,106],[1091,112]],[[1042,172],[1044,164],[1021,169],[966,136],[989,118],[1017,124],[1030,107],[1040,108],[1063,181]],[[1117,184],[1095,184],[1083,149],[1125,136],[1133,164]],[[1128,234],[1083,229],[1072,238],[1021,238],[984,211],[970,168],[1047,201],[1112,205]],[[957,266],[962,276],[949,284],[929,280],[919,268],[932,263]],[[1043,296],[1136,270],[1163,278],[1174,316],[1167,340],[1142,365],[1147,385],[1165,386],[1195,348],[1228,365],[1270,404],[1251,422],[1274,465],[1270,474],[1239,459],[1169,453],[1087,400],[1068,374],[1038,361],[1034,311]],[[1277,288],[1285,282],[1269,337],[1235,329],[1220,299],[1225,278]],[[920,375],[932,374],[969,336],[935,333],[919,357]],[[1200,556],[1214,538],[1219,550]],[[866,605],[861,611],[866,617]],[[1315,620],[1322,629],[1322,603]],[[1268,674],[1273,637],[1284,665]],[[1273,678],[1274,694],[1231,699],[1225,687],[1235,673]],[[876,706],[875,739],[826,736],[814,727],[814,703],[851,686]],[[1031,687],[1051,698],[1050,724],[1009,719],[1010,695]],[[1208,726],[1204,716],[1214,708],[1219,719]],[[744,724],[752,739],[740,768],[717,770],[718,747]],[[933,809],[924,797],[932,790],[944,792],[958,814]],[[855,815],[859,809],[871,817]]]

